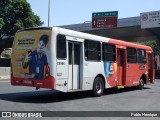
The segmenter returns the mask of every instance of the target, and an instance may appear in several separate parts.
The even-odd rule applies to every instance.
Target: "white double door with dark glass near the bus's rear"
[[[78,42],[68,42],[68,90],[80,89],[80,49]]]

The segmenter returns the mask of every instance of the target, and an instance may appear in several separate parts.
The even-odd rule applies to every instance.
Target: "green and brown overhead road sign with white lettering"
[[[117,27],[118,11],[92,13],[92,28]]]

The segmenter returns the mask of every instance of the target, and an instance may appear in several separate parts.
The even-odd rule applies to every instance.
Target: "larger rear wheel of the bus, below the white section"
[[[103,94],[104,91],[104,82],[102,78],[97,77],[93,83],[93,93],[94,96],[99,97]]]

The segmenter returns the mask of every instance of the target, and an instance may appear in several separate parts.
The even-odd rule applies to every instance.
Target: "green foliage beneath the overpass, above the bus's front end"
[[[146,42],[136,42],[136,43],[150,46],[153,49],[153,52],[155,53],[155,55],[159,53],[159,49],[158,49],[156,41],[146,41]]]

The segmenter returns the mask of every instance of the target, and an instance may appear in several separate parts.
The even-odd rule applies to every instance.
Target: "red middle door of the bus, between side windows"
[[[117,49],[118,86],[125,85],[125,49]]]

